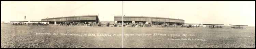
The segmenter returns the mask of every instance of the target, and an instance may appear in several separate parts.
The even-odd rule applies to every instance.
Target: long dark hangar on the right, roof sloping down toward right
[[[122,16],[115,16],[115,22],[122,23]],[[124,16],[124,23],[142,23],[152,25],[161,25],[163,23],[167,23],[170,25],[182,25],[184,24],[184,20],[161,17]]]

